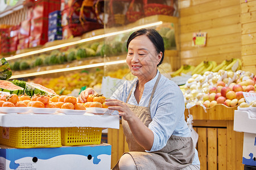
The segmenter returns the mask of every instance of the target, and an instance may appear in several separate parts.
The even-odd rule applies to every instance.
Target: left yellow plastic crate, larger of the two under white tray
[[[60,128],[0,127],[0,144],[15,148],[61,147]]]

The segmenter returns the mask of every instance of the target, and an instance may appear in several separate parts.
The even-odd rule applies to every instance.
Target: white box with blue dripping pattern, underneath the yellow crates
[[[111,145],[56,148],[11,148],[0,146],[0,169],[110,169]]]

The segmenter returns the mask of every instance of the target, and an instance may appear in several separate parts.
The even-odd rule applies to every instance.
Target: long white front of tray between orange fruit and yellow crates
[[[4,114],[0,113],[3,127],[93,127],[119,129],[119,116],[70,114]]]

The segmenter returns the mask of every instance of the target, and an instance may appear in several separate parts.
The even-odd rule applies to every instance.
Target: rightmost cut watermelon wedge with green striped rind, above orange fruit
[[[57,95],[55,91],[42,86],[41,84],[26,82],[24,93],[28,96],[34,95]]]

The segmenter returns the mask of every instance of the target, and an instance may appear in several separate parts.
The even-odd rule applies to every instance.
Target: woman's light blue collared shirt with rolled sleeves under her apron
[[[126,102],[129,92],[132,90],[128,103],[141,107],[148,107],[151,92],[158,75],[159,71],[154,79],[144,85],[144,91],[139,103],[137,103],[134,96],[138,81],[137,78],[132,81],[125,81],[123,86],[120,86],[111,98]],[[133,88],[134,83],[136,84]],[[184,110],[184,96],[180,88],[177,84],[162,75],[150,105],[152,121],[148,125],[148,128],[154,133],[154,143],[151,150],[147,152],[162,149],[166,146],[171,135],[191,137],[191,130],[188,128],[187,122],[185,122]],[[197,151],[195,151],[195,158],[192,164],[200,164]]]

